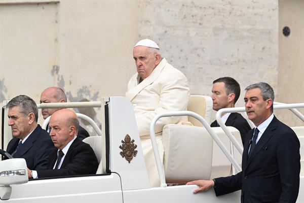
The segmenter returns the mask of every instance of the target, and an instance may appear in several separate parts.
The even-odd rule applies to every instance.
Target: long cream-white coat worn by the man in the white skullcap
[[[186,110],[190,93],[187,78],[170,65],[165,58],[141,83],[139,83],[139,78],[140,76],[136,73],[129,80],[126,97],[134,107],[150,185],[157,187],[160,186],[160,180],[150,140],[150,122],[158,113]],[[181,119],[187,121],[185,117],[165,117],[159,119],[155,125],[162,163],[164,157],[163,127],[169,123],[179,123]]]

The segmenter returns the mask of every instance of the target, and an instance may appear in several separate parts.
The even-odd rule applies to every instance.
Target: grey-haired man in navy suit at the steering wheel
[[[24,158],[31,170],[46,169],[54,145],[48,132],[37,124],[36,103],[26,95],[19,95],[11,99],[6,108],[14,137],[7,152],[14,158]]]

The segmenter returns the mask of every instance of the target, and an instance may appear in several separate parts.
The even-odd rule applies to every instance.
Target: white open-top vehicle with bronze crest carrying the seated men
[[[192,95],[193,96],[193,95]],[[210,97],[203,97],[205,104]],[[12,139],[8,126],[6,104],[2,109],[2,138],[0,153],[7,159],[0,162],[0,202],[240,202],[240,191],[215,196],[213,189],[193,194],[196,185],[185,185],[197,179],[210,180],[229,176],[241,170],[242,146],[240,132],[234,127],[209,126],[208,105],[205,113],[192,111],[168,112],[157,115],[150,125],[161,184],[151,187],[143,158],[139,133],[131,103],[125,97],[103,97],[102,101],[81,103],[39,104],[39,108],[101,108],[101,129],[88,116],[78,117],[88,121],[97,136],[86,138],[99,162],[94,175],[28,179],[27,165],[22,158],[13,158],[4,151]],[[211,99],[212,102],[212,99]],[[210,104],[209,104],[210,107]],[[212,103],[211,103],[212,107]],[[275,109],[303,108],[304,104],[278,104]],[[194,112],[193,112],[194,111]],[[244,108],[222,109],[244,112]],[[304,116],[293,110],[300,119]],[[161,117],[191,116],[197,126],[165,125],[163,145],[164,165],[161,164],[155,139],[154,125]],[[202,116],[204,117],[202,117]],[[208,118],[207,118],[208,117]],[[49,118],[42,125],[46,128]],[[200,122],[198,122],[200,121]],[[195,122],[193,122],[195,123]],[[204,126],[204,127],[202,127]],[[303,143],[304,126],[293,127],[300,143],[301,172],[297,203],[304,202]]]

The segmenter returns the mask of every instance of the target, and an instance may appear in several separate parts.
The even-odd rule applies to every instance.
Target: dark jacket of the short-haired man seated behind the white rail
[[[240,131],[242,143],[244,146],[246,136],[249,130],[251,130],[250,125],[248,124],[247,120],[239,113],[231,113],[225,122],[226,126],[233,126]],[[216,120],[213,121],[210,125],[211,127],[217,127]]]

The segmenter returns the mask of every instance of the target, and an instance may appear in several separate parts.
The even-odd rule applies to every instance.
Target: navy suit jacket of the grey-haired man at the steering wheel
[[[16,150],[19,140],[13,138],[9,142],[8,153],[12,154]],[[13,157],[24,158],[30,170],[44,170],[47,168],[49,154],[54,148],[49,133],[37,125]]]

